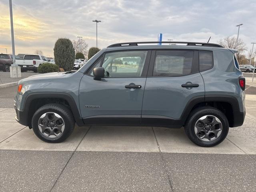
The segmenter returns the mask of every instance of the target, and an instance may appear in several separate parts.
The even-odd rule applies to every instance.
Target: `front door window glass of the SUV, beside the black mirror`
[[[140,77],[148,51],[122,51],[105,54],[105,77]]]

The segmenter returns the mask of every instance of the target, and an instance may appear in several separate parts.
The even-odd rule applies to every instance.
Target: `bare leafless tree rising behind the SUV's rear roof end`
[[[237,46],[236,46],[236,37],[227,36],[226,38],[220,39],[218,41],[218,44],[226,48],[238,50],[238,53],[236,54],[238,62],[244,59],[242,55],[243,55],[243,52],[247,50],[247,47],[242,39],[238,39]]]

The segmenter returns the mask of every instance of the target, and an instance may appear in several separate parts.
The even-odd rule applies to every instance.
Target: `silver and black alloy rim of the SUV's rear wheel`
[[[202,116],[196,121],[194,131],[202,141],[212,141],[218,138],[222,132],[222,123],[216,116]]]

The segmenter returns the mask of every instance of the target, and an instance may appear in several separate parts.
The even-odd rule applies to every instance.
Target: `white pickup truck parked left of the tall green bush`
[[[24,55],[23,60],[16,60],[16,64],[21,67],[21,71],[34,71],[37,72],[37,68],[44,62],[50,62],[48,58],[42,55]]]

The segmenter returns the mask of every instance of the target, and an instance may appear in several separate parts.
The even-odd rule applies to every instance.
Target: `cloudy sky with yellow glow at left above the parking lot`
[[[256,0],[12,0],[16,54],[40,49],[53,56],[60,37],[83,36],[89,47],[131,41],[216,43],[236,36],[256,42]],[[0,0],[0,52],[11,53],[9,0]]]

